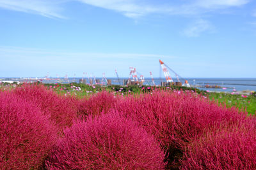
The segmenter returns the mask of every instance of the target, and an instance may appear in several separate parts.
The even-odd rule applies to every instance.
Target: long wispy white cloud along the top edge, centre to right
[[[126,17],[138,18],[150,13],[168,15],[198,15],[212,10],[220,10],[249,3],[249,0],[188,0],[179,3],[153,4],[152,1],[139,0],[76,0],[99,8],[114,10]]]

